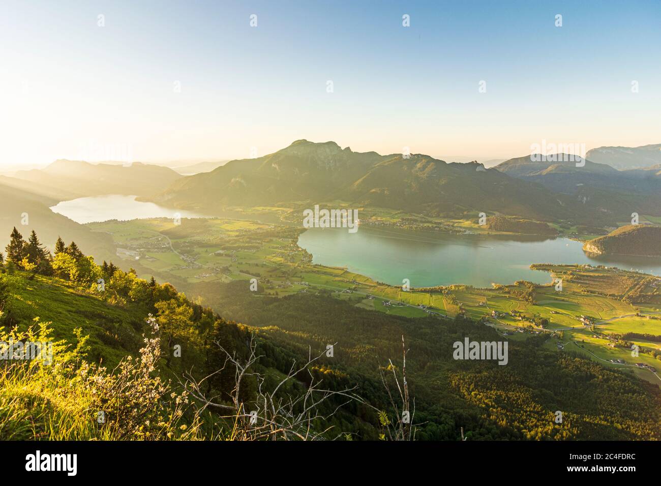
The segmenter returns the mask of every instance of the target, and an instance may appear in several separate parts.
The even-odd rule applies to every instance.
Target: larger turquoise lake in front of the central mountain
[[[454,235],[361,226],[356,233],[342,228],[311,228],[301,234],[298,244],[313,255],[313,263],[346,266],[352,272],[397,286],[404,278],[413,287],[551,281],[546,272],[531,270],[531,263],[603,264],[661,275],[661,259],[588,257],[582,243],[566,238]]]

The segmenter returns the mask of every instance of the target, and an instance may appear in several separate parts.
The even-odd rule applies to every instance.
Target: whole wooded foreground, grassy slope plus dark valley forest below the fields
[[[461,428],[470,440],[661,436],[658,386],[543,350],[547,337],[510,341],[507,366],[454,360],[455,341],[502,337],[461,317],[396,317],[324,295],[278,299],[247,282],[206,284],[212,311],[169,284],[97,265],[75,243],[59,240],[50,255],[36,233],[16,233],[0,269],[0,341],[56,341],[56,366],[5,366],[2,438],[311,438],[303,425],[319,438],[396,438],[407,430],[395,382],[403,343],[415,438],[459,440]],[[236,371],[248,364],[239,389]],[[268,421],[260,408],[315,393],[307,415],[305,400]],[[263,426],[251,428],[249,410]],[[307,419],[281,424],[297,414]]]

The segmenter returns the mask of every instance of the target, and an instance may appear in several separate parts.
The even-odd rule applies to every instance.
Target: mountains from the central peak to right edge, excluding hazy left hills
[[[568,158],[568,157],[567,157]],[[297,140],[256,159],[229,161],[178,179],[143,198],[188,210],[225,206],[330,203],[394,208],[428,216],[492,212],[540,221],[615,225],[633,211],[659,214],[661,172],[618,171],[586,160],[533,161],[527,155],[493,169],[429,155],[354,152],[335,142]],[[554,157],[553,160],[563,159]]]

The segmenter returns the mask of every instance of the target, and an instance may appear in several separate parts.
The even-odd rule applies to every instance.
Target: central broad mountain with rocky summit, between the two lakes
[[[335,142],[307,140],[179,179],[144,200],[207,212],[230,205],[342,200],[424,214],[484,210],[540,220],[570,215],[543,186],[516,181],[479,163],[447,163],[423,154],[360,153]]]

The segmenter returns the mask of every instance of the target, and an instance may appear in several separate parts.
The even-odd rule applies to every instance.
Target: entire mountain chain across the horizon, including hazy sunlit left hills
[[[616,151],[601,147],[588,154],[625,153],[631,159],[632,151],[649,155],[655,153],[650,147],[660,146]],[[221,214],[228,206],[298,208],[341,201],[426,216],[462,218],[487,212],[605,226],[629,220],[632,212],[661,215],[661,164],[617,170],[589,157],[577,167],[574,161],[563,162],[568,158],[526,155],[486,168],[475,161],[447,163],[420,153],[381,155],[342,149],[335,142],[297,140],[263,157],[175,169],[60,159],[44,169],[0,177],[0,184],[4,190],[38,193],[53,204],[83,196],[130,194],[205,214]],[[645,160],[652,159],[649,155]],[[192,169],[206,172],[177,172]]]

